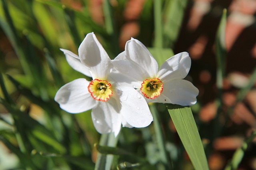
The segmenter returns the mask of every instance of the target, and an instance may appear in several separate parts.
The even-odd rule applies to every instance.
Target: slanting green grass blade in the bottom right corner
[[[256,137],[256,131],[253,131],[252,134],[244,141],[242,147],[236,150],[233,154],[231,161],[227,164],[224,170],[236,170],[244,157],[244,152],[248,149],[248,145]]]

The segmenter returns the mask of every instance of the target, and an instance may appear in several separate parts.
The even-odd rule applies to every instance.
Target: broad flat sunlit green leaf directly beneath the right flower
[[[194,168],[209,170],[204,147],[190,107],[173,104],[166,106]]]

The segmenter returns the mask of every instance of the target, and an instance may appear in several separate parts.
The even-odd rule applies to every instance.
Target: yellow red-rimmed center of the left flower
[[[106,102],[113,94],[111,84],[108,81],[98,79],[94,79],[89,83],[88,91],[92,98],[102,102]]]

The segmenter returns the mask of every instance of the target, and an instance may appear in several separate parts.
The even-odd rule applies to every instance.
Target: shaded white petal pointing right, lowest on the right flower
[[[172,80],[164,83],[161,97],[152,99],[152,102],[191,106],[196,104],[198,93],[198,89],[191,82],[183,79]]]

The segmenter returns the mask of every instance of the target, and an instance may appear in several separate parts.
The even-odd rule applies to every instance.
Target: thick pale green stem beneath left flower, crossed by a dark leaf
[[[108,147],[116,147],[118,136],[114,133],[102,134],[100,137],[100,145]],[[113,163],[114,155],[98,153],[94,170],[110,170]]]

